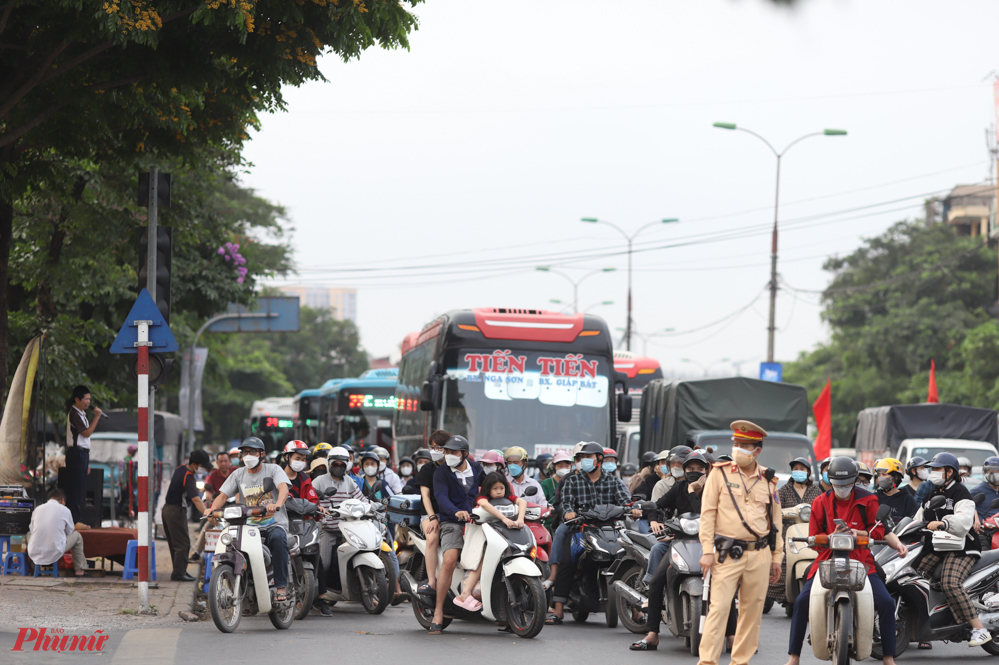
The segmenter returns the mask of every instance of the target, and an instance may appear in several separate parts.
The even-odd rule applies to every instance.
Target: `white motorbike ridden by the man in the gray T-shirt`
[[[265,478],[263,489],[265,493],[273,492],[274,481]],[[223,633],[236,630],[244,613],[265,612],[274,627],[281,630],[290,628],[295,620],[295,587],[289,584],[287,600],[274,602],[270,550],[263,542],[260,528],[246,524],[248,519],[261,517],[266,512],[262,506],[243,505],[229,505],[215,511],[221,533],[212,559],[208,608],[215,627]]]

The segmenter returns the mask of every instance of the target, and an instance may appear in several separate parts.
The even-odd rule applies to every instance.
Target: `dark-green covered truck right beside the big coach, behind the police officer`
[[[781,477],[795,457],[815,466],[808,426],[808,393],[791,383],[745,377],[692,381],[656,380],[642,393],[641,452],[694,444],[730,453],[733,420],[751,420],[767,430],[760,462]]]

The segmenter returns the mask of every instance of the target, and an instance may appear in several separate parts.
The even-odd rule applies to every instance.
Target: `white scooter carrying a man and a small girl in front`
[[[508,499],[493,499],[492,505],[508,519],[515,519],[517,506]],[[461,558],[451,576],[451,588],[447,591],[444,603],[444,621],[447,628],[453,618],[465,621],[490,621],[506,625],[518,637],[536,637],[545,625],[548,609],[545,590],[541,584],[541,570],[538,568],[537,544],[531,530],[509,529],[495,516],[481,507],[471,511],[472,522],[465,530],[465,544]],[[418,526],[410,527],[410,538],[419,557],[427,552],[427,541]],[[479,582],[482,607],[471,612],[454,604],[462,591],[465,572],[478,567],[482,561],[482,577]],[[411,560],[412,561],[412,560]],[[438,570],[443,555],[438,551]],[[423,570],[422,565],[420,570]],[[429,629],[433,621],[436,598],[417,593],[420,583],[410,570],[401,574],[403,590],[409,594],[416,620]],[[441,590],[438,589],[438,593]]]

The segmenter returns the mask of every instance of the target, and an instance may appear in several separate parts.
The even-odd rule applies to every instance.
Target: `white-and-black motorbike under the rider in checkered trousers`
[[[984,498],[981,494],[974,497],[976,503],[981,503]],[[929,507],[939,508],[945,501],[942,496],[933,497]],[[999,507],[999,503],[996,507]],[[921,538],[925,533],[925,526],[923,522],[910,522],[904,527],[902,523],[899,524],[904,535],[910,538]],[[901,655],[910,641],[965,642],[971,637],[971,625],[955,621],[947,598],[940,588],[941,567],[937,566],[930,579],[916,573],[912,567],[922,547],[921,542],[914,544],[905,559],[885,556],[882,563],[888,592],[895,599],[897,608],[896,655]],[[994,637],[999,637],[999,550],[982,552],[968,573],[964,588],[979,611],[978,619]],[[995,640],[983,644],[982,649],[993,656],[999,656],[999,644]]]

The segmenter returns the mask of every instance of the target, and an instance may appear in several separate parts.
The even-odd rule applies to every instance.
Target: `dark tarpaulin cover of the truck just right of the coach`
[[[808,391],[745,377],[652,381],[642,393],[642,451],[667,450],[696,429],[728,429],[744,418],[772,432],[807,434]]]

